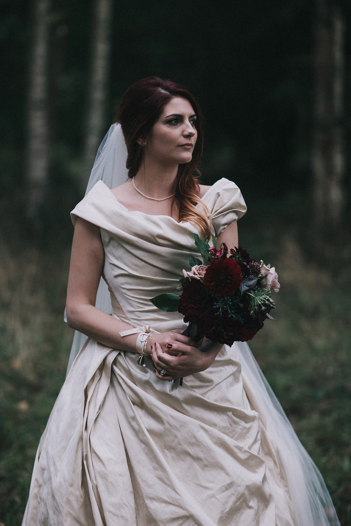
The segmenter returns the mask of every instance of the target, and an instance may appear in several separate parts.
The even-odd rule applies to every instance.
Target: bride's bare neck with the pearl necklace
[[[160,199],[172,194],[178,165],[163,166],[155,162],[142,163],[134,177],[136,187],[149,197]]]

